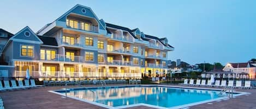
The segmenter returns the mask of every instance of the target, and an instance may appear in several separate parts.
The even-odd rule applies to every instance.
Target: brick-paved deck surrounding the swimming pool
[[[96,85],[86,85],[83,87],[92,87]],[[109,86],[120,86],[120,85],[109,85]],[[123,85],[121,85],[123,86]],[[178,86],[178,85],[171,85]],[[79,86],[68,86],[68,87],[79,87]],[[19,91],[5,91],[0,92],[0,97],[3,99],[5,109],[34,109],[34,108],[55,108],[55,109],[76,109],[76,108],[103,108],[87,102],[82,102],[79,100],[74,100],[70,98],[62,98],[61,95],[51,93],[48,91],[61,89],[64,87],[39,87],[33,89],[25,89]],[[209,87],[203,87],[209,88]],[[211,87],[212,88],[212,87]],[[197,109],[211,109],[211,108],[234,108],[234,109],[256,109],[256,89],[235,89],[239,92],[249,92],[249,95],[241,95],[239,97],[210,102],[212,104],[200,104],[195,106],[190,106],[189,108]],[[130,107],[129,109],[146,109],[150,107],[146,106],[136,106]]]

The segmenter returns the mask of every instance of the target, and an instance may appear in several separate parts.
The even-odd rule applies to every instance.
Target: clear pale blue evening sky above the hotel
[[[256,58],[256,1],[1,1],[0,28],[37,31],[76,4],[105,22],[167,37],[170,60],[246,62]]]

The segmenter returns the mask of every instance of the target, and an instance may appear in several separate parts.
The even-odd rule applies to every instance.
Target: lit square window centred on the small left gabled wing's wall
[[[21,56],[34,56],[34,46],[21,46]]]

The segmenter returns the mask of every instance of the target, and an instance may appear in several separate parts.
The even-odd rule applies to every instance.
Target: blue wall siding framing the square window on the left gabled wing
[[[21,55],[21,45],[34,46],[34,57],[20,56]],[[13,42],[13,59],[22,59],[22,60],[39,60],[40,57],[40,44],[34,43],[25,43],[25,42]]]

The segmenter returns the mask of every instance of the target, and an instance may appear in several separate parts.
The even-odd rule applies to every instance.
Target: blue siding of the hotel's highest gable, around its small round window
[[[70,11],[67,15],[69,15],[70,13],[73,12],[73,13],[75,13],[75,14],[80,14],[80,15],[84,15],[84,16],[88,16],[88,17],[93,17],[93,18],[95,18],[95,19],[97,20],[97,17],[93,15],[93,12],[92,12],[90,9],[84,8],[84,9],[86,10],[86,12],[83,13],[83,12],[82,12],[82,9],[83,9],[83,8],[84,8],[84,7],[78,6],[78,7],[76,7],[75,9],[73,9],[72,11]],[[66,22],[67,15],[61,17],[61,18],[59,19],[59,21]],[[98,23],[100,23],[99,20],[97,20],[97,21],[98,21]],[[104,28],[102,25],[100,25],[100,24],[99,24],[99,29],[105,30],[105,28]]]

